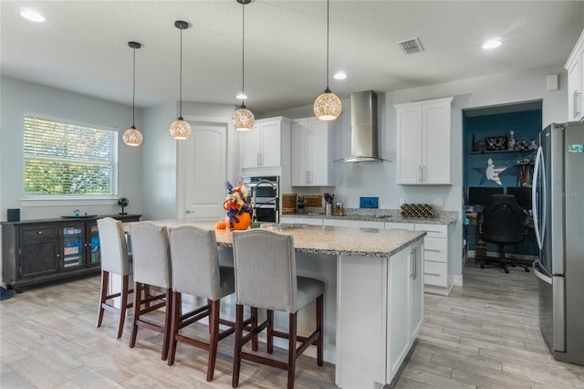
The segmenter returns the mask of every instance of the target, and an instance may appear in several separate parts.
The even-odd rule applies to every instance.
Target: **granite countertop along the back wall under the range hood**
[[[284,217],[306,217],[306,218],[320,218],[320,219],[339,219],[339,220],[356,220],[356,221],[370,221],[370,222],[390,222],[390,223],[418,223],[418,224],[433,224],[433,225],[451,225],[456,222],[458,212],[455,211],[441,211],[437,217],[422,218],[422,217],[402,217],[399,209],[360,209],[348,208],[345,210],[344,216],[325,216],[324,213],[318,212],[318,208],[311,209],[305,214],[283,215]]]

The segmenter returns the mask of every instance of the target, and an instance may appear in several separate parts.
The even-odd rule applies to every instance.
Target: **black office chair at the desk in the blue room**
[[[514,195],[492,195],[491,203],[483,211],[483,239],[499,245],[499,258],[484,258],[481,268],[492,262],[497,262],[505,272],[508,266],[521,266],[528,272],[526,265],[516,264],[512,259],[505,257],[505,246],[523,242],[524,228],[527,225],[527,216],[517,205]]]

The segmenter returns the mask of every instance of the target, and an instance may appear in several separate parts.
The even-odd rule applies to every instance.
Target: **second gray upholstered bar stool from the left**
[[[165,226],[151,222],[130,224],[132,261],[134,265],[134,319],[130,335],[130,348],[136,345],[138,327],[162,333],[162,360],[169,350],[172,278],[168,231]],[[151,296],[151,287],[162,293]],[[154,305],[151,305],[154,303]],[[146,316],[153,310],[165,309],[163,323]]]

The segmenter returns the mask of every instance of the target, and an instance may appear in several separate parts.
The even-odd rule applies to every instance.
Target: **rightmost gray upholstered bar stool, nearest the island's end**
[[[235,262],[235,354],[233,386],[239,384],[241,360],[287,370],[287,387],[294,387],[297,357],[309,345],[317,346],[322,366],[323,300],[325,284],[318,279],[297,277],[293,237],[253,229],[234,232]],[[297,335],[297,311],[316,300],[316,330],[308,337]],[[244,320],[244,306],[252,307]],[[266,321],[257,322],[257,309],[266,309]],[[288,332],[274,330],[274,310],[288,313]],[[274,336],[288,339],[288,360],[278,361],[255,353],[257,334],[267,329],[267,352],[274,351]],[[249,333],[243,336],[243,331]],[[243,350],[252,341],[252,351]],[[300,345],[297,347],[297,342]]]

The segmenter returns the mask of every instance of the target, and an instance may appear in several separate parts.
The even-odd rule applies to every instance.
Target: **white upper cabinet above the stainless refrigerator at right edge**
[[[568,121],[581,121],[582,115],[582,89],[584,89],[584,30],[572,50],[566,62],[568,70]]]

